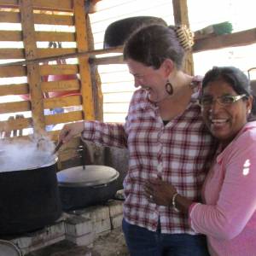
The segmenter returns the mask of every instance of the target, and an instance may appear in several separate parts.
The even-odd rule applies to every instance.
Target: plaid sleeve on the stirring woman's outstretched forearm
[[[108,147],[127,147],[127,135],[123,124],[84,121],[82,139]]]

